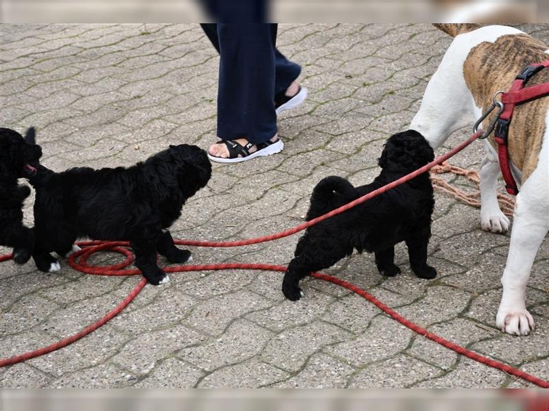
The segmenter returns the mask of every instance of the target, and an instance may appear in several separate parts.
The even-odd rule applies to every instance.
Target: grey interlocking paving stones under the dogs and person
[[[549,26],[521,26],[548,42]],[[450,43],[430,25],[281,25],[279,47],[303,65],[309,99],[284,112],[282,153],[214,166],[174,237],[251,238],[303,221],[327,175],[365,184],[384,140],[409,125]],[[218,56],[198,25],[2,25],[3,127],[35,126],[43,162],[128,166],[168,144],[215,140]],[[449,101],[449,103],[452,103]],[[441,153],[469,135],[457,132]],[[482,145],[452,163],[478,169]],[[455,184],[467,186],[461,177]],[[32,199],[25,221],[32,224]],[[478,210],[436,194],[432,281],[382,278],[373,256],[326,270],[420,325],[549,378],[549,242],[537,254],[528,307],[537,329],[494,327],[509,235],[482,232]],[[193,249],[194,262],[288,264],[298,236],[233,249]],[[4,253],[6,249],[0,249]],[[108,256],[107,260],[117,260]],[[179,273],[147,286],[113,321],[65,349],[0,369],[2,387],[524,387],[417,336],[362,298],[318,279],[285,301],[281,273]],[[137,277],[95,277],[63,264],[0,264],[0,358],[53,343],[108,312]]]

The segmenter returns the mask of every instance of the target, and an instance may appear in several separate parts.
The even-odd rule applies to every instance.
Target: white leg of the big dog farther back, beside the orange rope
[[[504,233],[509,229],[509,219],[498,204],[500,163],[491,147],[487,147],[487,151],[480,166],[480,226],[484,231]]]

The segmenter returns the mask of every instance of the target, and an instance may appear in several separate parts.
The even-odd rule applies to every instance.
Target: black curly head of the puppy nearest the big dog
[[[390,136],[385,143],[379,166],[390,171],[414,171],[434,160],[427,140],[415,130]]]

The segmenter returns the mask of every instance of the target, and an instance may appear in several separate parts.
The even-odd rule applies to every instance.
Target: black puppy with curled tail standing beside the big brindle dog
[[[321,180],[313,190],[307,221],[326,214],[368,192],[419,169],[434,159],[433,149],[414,130],[391,136],[379,158],[382,172],[371,184],[353,187],[336,176]],[[431,236],[433,188],[428,173],[333,216],[312,227],[299,239],[295,258],[285,272],[282,292],[296,301],[303,296],[299,281],[309,273],[326,269],[353,249],[375,253],[382,275],[400,273],[395,265],[395,244],[406,241],[412,271],[420,278],[434,278],[436,270],[427,264]]]

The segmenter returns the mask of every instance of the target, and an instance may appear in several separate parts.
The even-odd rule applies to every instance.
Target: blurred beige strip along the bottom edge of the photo
[[[5,411],[520,411],[543,390],[2,390]],[[548,400],[549,401],[549,400]],[[536,410],[536,408],[533,408]]]

